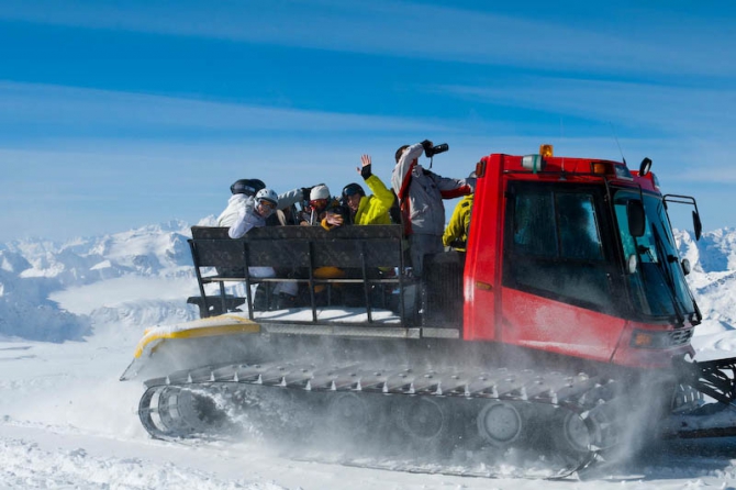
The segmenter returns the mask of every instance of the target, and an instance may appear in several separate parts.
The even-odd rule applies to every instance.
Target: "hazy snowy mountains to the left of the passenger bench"
[[[185,302],[197,289],[190,236],[189,224],[170,221],[66,243],[0,244],[0,337],[63,342],[96,323],[197,318]]]

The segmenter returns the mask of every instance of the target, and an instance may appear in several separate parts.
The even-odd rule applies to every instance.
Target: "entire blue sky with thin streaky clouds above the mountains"
[[[338,193],[364,153],[388,182],[424,138],[453,177],[540,143],[647,156],[706,231],[736,226],[735,20],[677,0],[2,0],[0,242],[196,223],[238,178]]]

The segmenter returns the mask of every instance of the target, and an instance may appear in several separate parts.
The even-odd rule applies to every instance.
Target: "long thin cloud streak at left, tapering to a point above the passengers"
[[[439,121],[303,111],[108,90],[0,81],[0,124],[301,132],[447,130]],[[87,127],[85,131],[89,131]]]

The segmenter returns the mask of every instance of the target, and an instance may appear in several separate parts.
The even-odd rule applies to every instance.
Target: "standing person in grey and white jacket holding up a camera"
[[[419,164],[424,153],[432,157],[446,151],[430,140],[401,146],[395,153],[397,165],[391,175],[391,186],[399,197],[404,234],[409,237],[413,275],[422,277],[424,256],[444,252],[442,236],[445,232],[443,199],[454,199],[475,192],[476,179],[453,179],[438,176]]]

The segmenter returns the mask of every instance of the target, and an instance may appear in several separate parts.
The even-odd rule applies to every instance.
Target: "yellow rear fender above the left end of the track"
[[[176,350],[177,346],[188,344],[187,339],[193,338],[230,338],[242,334],[260,333],[260,325],[237,314],[222,314],[208,319],[193,320],[190,322],[175,323],[171,325],[159,325],[146,328],[143,338],[138,342],[133,354],[133,361],[120,377],[121,380],[136,377],[144,367],[147,367],[152,357],[170,358],[176,356],[160,355],[160,350]],[[204,348],[188,346],[190,353],[182,359],[199,359],[212,352]],[[154,356],[154,354],[156,355]]]

